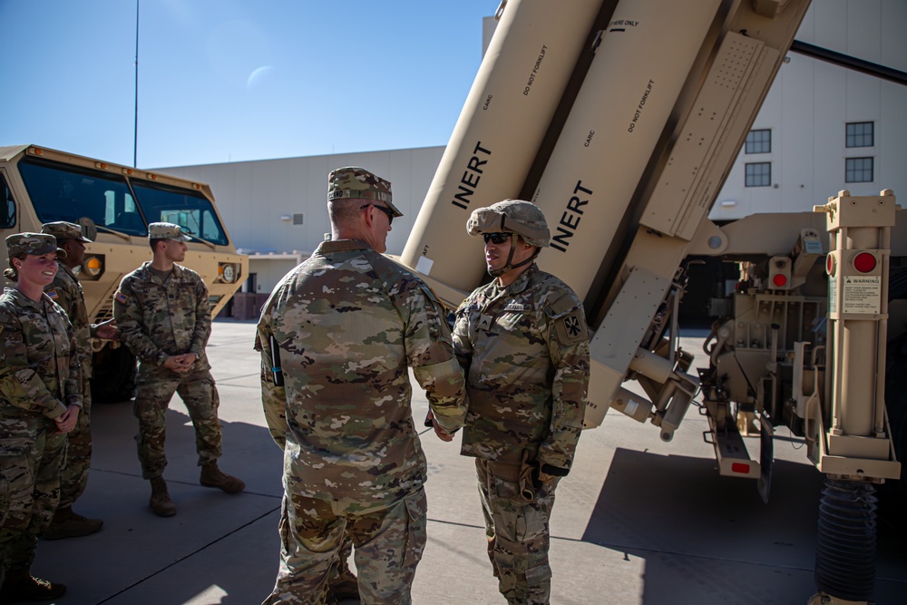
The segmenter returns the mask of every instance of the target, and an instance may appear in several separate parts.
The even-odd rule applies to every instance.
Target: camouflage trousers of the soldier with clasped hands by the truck
[[[132,411],[139,419],[138,444],[141,476],[160,477],[167,466],[164,454],[166,413],[173,393],[178,393],[195,427],[195,449],[199,465],[216,462],[220,457],[220,421],[218,392],[207,368],[176,374],[169,369],[140,364],[135,379],[135,403]]]

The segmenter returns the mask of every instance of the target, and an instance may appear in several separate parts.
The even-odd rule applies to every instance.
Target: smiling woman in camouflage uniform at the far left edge
[[[44,294],[57,272],[54,236],[6,238],[15,288],[0,295],[0,602],[49,600],[66,587],[32,577],[38,535],[60,498],[66,434],[78,423],[82,376],[73,327]]]

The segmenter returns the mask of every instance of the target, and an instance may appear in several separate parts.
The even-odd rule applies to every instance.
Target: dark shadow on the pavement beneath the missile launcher
[[[754,481],[721,477],[711,460],[618,448],[582,539],[645,560],[641,603],[803,605],[822,484],[808,464],[775,461],[764,504]],[[893,603],[907,557],[885,538],[876,600]]]

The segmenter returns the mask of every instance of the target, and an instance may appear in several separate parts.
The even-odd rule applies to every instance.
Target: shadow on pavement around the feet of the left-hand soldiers
[[[141,478],[132,403],[93,408],[93,468],[77,512],[102,532],[38,545],[35,573],[69,587],[63,603],[162,605],[261,602],[278,568],[282,455],[268,430],[223,424],[220,467],[246,482],[226,494],[199,484],[190,418],[174,397],[167,413],[164,472],[177,514],[151,512]],[[184,410],[184,408],[182,408]]]

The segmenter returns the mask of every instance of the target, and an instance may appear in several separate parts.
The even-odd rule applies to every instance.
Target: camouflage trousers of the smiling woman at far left
[[[44,416],[0,410],[0,559],[27,570],[60,499],[66,435]]]

